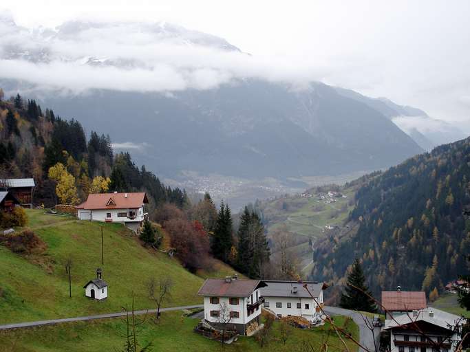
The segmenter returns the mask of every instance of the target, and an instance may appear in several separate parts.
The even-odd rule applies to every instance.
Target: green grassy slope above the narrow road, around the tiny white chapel
[[[41,210],[28,210],[28,216],[30,228],[47,243],[47,250],[25,258],[0,246],[0,324],[120,311],[132,294],[136,309],[150,308],[146,283],[151,277],[173,279],[173,297],[166,306],[202,303],[197,296],[202,277],[187,272],[162,252],[143,248],[122,225],[103,224],[105,264],[101,265],[99,223],[46,215]],[[67,259],[72,260],[72,298]],[[223,274],[233,272],[226,265],[215,266]],[[84,295],[83,285],[95,277],[96,267],[103,267],[103,279],[109,285],[109,298],[103,302]]]

